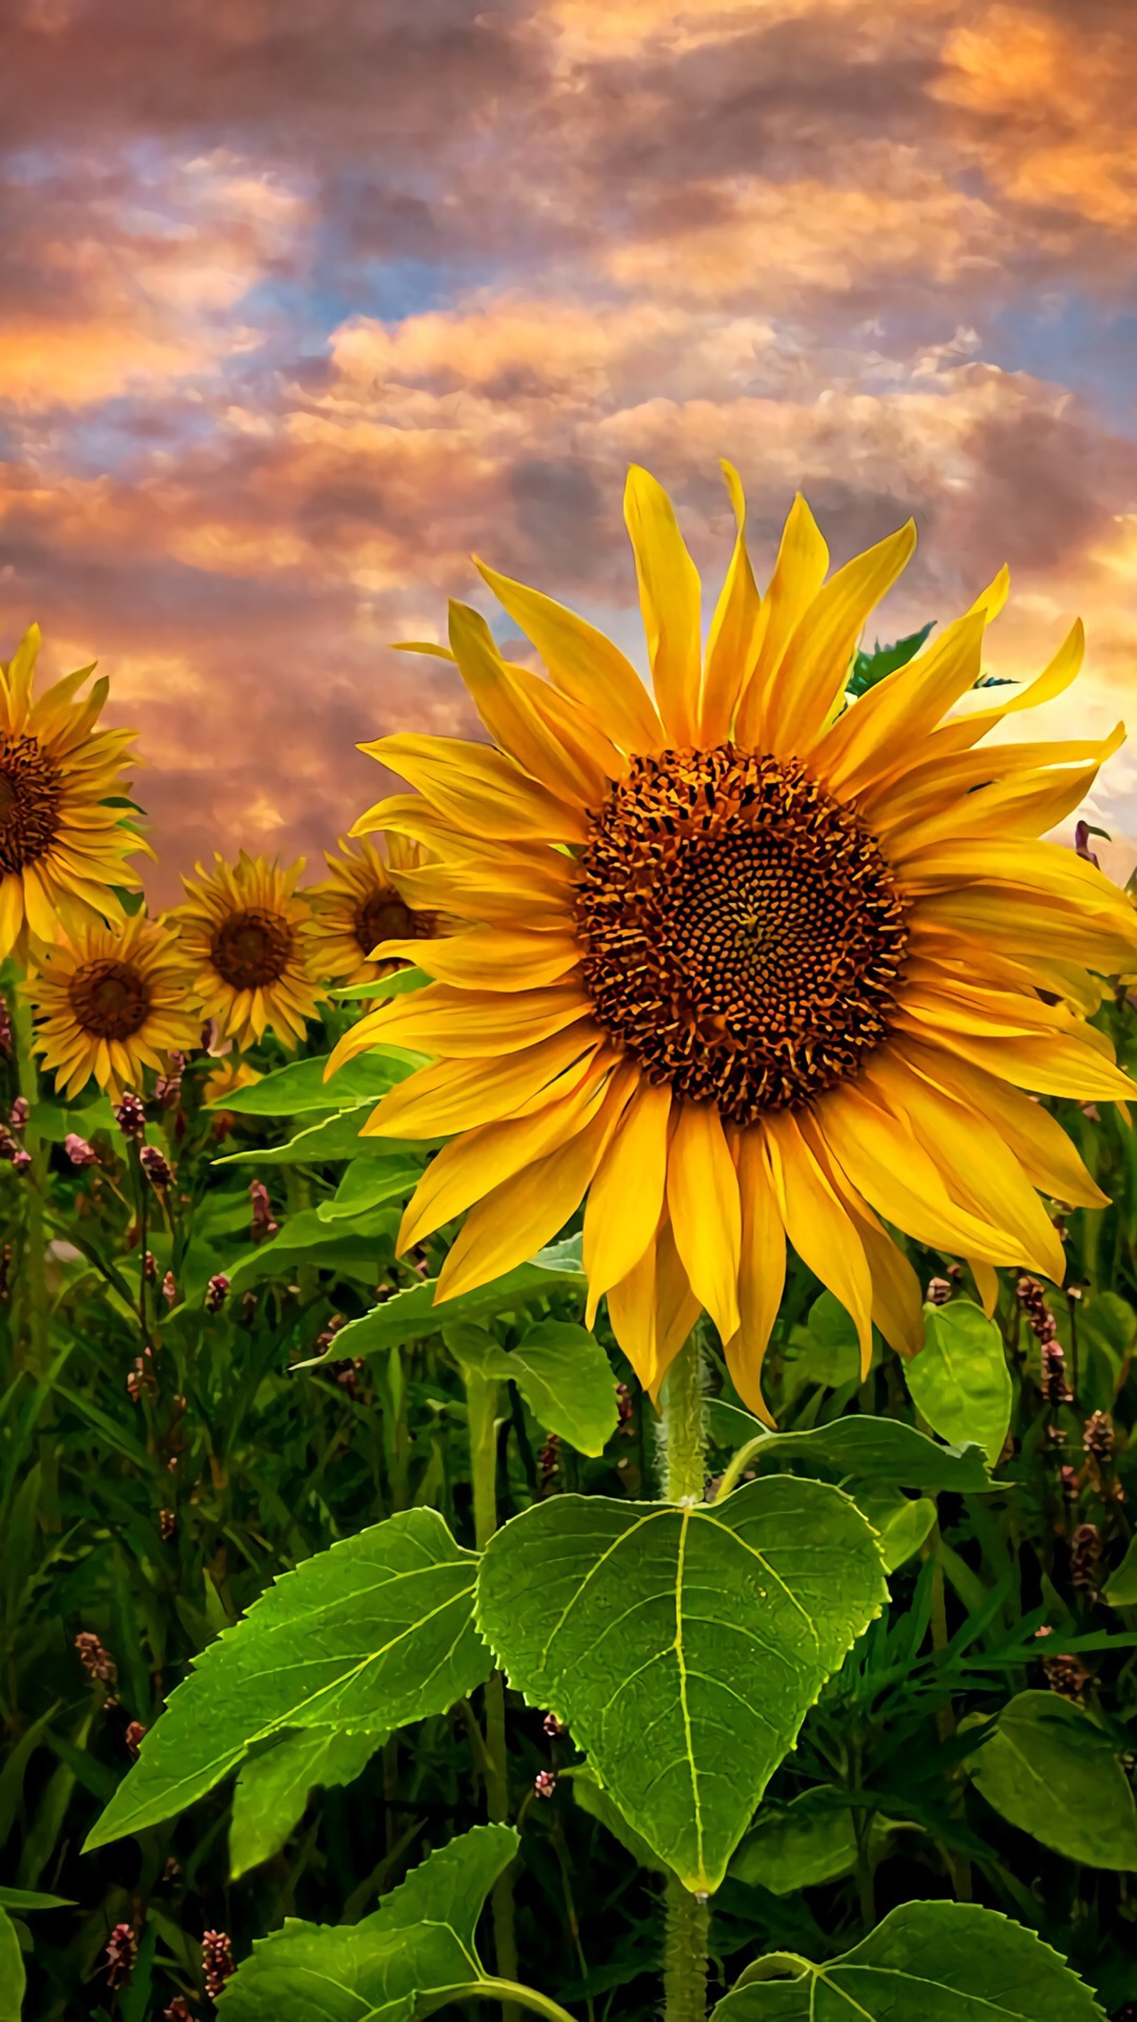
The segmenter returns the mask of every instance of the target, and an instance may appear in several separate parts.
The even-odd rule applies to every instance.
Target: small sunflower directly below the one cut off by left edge
[[[194,977],[174,934],[135,914],[123,926],[79,928],[44,950],[24,985],[36,1019],[34,1047],[55,1068],[57,1094],[95,1076],[113,1102],[141,1086],[141,1070],[198,1045]]]

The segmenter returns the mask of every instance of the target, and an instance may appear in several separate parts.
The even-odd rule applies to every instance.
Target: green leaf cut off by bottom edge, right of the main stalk
[[[711,2022],[1103,2022],[1034,1931],[975,1903],[905,1903],[852,1951],[747,1965]]]

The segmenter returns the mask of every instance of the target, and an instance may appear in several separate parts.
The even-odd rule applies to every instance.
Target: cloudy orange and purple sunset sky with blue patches
[[[1131,0],[6,0],[0,657],[109,673],[156,902],[471,734],[390,649],[471,552],[642,665],[630,461],[713,592],[721,457],[759,582],[915,514],[883,639],[1010,562],[988,669],[1080,613],[1032,724],[1137,732],[1135,101]],[[1133,748],[1087,813],[1125,874]]]

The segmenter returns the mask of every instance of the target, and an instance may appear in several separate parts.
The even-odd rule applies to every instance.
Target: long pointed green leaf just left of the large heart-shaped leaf
[[[446,1713],[491,1670],[477,1553],[436,1510],[402,1510],[305,1559],[196,1660],[87,1846],[182,1812],[285,1727],[351,1733]]]

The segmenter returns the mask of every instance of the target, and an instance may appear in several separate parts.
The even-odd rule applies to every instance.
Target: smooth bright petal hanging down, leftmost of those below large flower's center
[[[588,1189],[584,1268],[592,1326],[604,1292],[640,1262],[652,1242],[666,1181],[670,1088],[640,1082]]]

